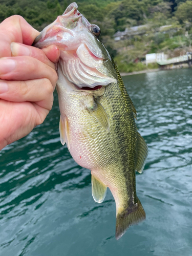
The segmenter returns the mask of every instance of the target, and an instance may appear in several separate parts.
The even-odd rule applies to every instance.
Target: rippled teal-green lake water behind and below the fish
[[[146,220],[116,241],[115,202],[59,141],[55,94],[46,121],[0,152],[1,256],[192,255],[192,72],[123,77],[148,144],[137,195]]]

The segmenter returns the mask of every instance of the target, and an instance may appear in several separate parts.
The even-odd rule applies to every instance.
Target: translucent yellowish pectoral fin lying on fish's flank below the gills
[[[103,106],[101,103],[94,98],[95,103],[97,104],[97,108],[95,110],[90,111],[90,113],[97,119],[97,121],[100,123],[100,125],[106,130],[110,131],[110,121],[109,117],[106,114]]]

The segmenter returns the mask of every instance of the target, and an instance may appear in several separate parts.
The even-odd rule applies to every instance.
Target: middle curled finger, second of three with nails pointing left
[[[30,56],[1,58],[0,78],[3,80],[48,78],[54,88],[57,82],[57,74],[51,67]]]

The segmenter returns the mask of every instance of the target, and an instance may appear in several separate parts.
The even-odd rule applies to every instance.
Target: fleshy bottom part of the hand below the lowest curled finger
[[[7,144],[18,140],[41,124],[49,110],[30,102],[10,102],[0,99],[1,137],[0,150]]]

